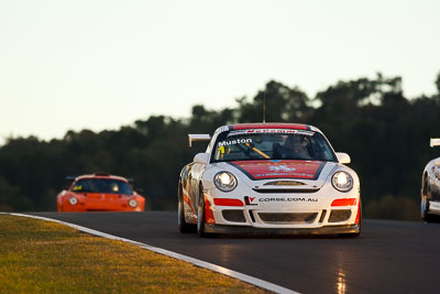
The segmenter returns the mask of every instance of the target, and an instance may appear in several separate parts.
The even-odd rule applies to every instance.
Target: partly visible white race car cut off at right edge
[[[430,146],[439,146],[440,139],[432,138]],[[421,177],[421,218],[425,221],[436,220],[440,215],[440,157],[433,159],[425,166]]]

